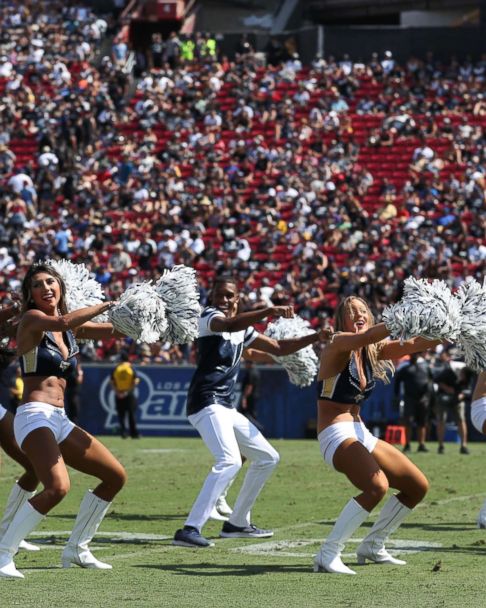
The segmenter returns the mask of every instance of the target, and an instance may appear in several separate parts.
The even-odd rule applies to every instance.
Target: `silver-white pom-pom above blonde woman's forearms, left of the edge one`
[[[460,306],[444,281],[408,278],[402,299],[383,311],[392,338],[455,340],[460,332]]]

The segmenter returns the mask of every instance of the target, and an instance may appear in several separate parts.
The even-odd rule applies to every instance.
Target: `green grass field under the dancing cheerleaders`
[[[171,546],[199,491],[211,460],[199,439],[105,438],[125,464],[129,481],[103,522],[92,548],[112,571],[60,567],[62,546],[78,504],[93,482],[72,473],[67,498],[29,539],[38,553],[21,553],[25,580],[0,579],[0,606],[44,608],[422,608],[486,604],[486,531],[475,525],[486,498],[486,445],[470,456],[456,444],[446,454],[412,454],[431,490],[388,544],[406,566],[357,566],[353,549],[376,518],[370,517],[346,547],[344,561],[357,576],[314,574],[313,555],[334,518],[353,495],[346,479],[321,461],[315,441],[274,441],[282,460],[253,512],[257,525],[273,527],[267,540],[218,539],[219,522],[204,533],[210,549]],[[434,446],[431,446],[431,449]],[[17,466],[5,457],[0,505]],[[230,490],[229,502],[242,475]],[[91,483],[91,485],[90,485]]]

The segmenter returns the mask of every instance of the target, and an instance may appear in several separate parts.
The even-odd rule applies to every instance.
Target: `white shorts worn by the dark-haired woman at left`
[[[31,401],[17,408],[14,418],[15,440],[22,446],[29,433],[32,433],[35,429],[46,427],[52,431],[57,443],[61,443],[75,426],[67,417],[63,407],[55,407],[40,401]]]

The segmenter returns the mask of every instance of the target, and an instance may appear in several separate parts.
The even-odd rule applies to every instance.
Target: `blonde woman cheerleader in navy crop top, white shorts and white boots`
[[[315,561],[315,572],[356,574],[341,560],[351,535],[385,497],[398,490],[382,508],[377,521],[357,549],[358,563],[403,565],[385,549],[387,537],[424,498],[425,475],[399,450],[374,437],[360,417],[360,404],[376,380],[388,382],[391,359],[421,352],[440,342],[412,338],[385,341],[389,331],[374,324],[368,304],[351,296],[341,302],[333,338],[321,355],[318,395],[318,439],[326,463],[343,473],[360,491],[341,511]]]

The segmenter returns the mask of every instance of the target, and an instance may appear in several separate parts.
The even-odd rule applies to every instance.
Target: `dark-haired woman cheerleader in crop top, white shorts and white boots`
[[[93,556],[88,544],[125,484],[126,473],[105,446],[69,420],[64,411],[64,395],[66,377],[76,366],[75,336],[97,340],[113,335],[111,323],[91,321],[112,303],[68,313],[65,283],[47,264],[33,265],[27,271],[22,297],[17,354],[24,395],[15,416],[14,432],[44,487],[17,510],[0,541],[0,576],[24,578],[16,569],[13,556],[21,540],[69,491],[67,466],[98,478],[100,483],[81,502],[62,554],[62,565],[111,569],[111,565]]]

